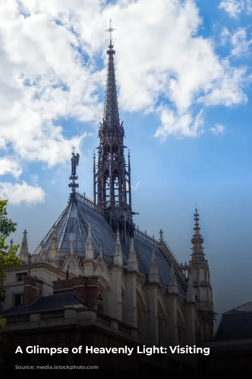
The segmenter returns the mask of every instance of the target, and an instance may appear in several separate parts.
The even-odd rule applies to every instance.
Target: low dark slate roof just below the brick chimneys
[[[85,302],[76,297],[73,294],[54,294],[53,296],[43,296],[38,300],[35,300],[28,306],[18,305],[16,307],[9,308],[1,313],[2,316],[39,312],[47,310],[62,309],[68,305],[83,305],[86,308],[90,308]]]

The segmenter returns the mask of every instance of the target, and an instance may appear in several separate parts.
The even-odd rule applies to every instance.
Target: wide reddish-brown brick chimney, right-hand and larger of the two
[[[73,294],[91,306],[95,305],[97,291],[97,276],[75,276],[53,281],[53,295]]]

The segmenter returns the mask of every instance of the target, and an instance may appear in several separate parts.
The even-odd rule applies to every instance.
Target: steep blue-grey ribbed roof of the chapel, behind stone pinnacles
[[[116,235],[103,215],[92,208],[91,202],[89,203],[85,202],[85,198],[78,196],[76,202],[69,202],[65,210],[55,222],[54,225],[56,229],[58,251],[68,253],[70,251],[70,241],[75,241],[75,253],[77,255],[78,253],[84,253],[86,250],[88,226],[90,224],[95,252],[99,254],[100,245],[102,244],[103,255],[113,257]],[[49,252],[52,231],[53,226],[43,240],[44,253]],[[155,250],[156,262],[160,274],[160,282],[167,286],[170,280],[171,266],[158,248],[157,241],[136,230],[134,244],[139,262],[139,270],[145,275],[149,274],[152,253],[153,250]],[[40,251],[41,246],[38,246],[34,252],[34,255],[38,255]],[[122,244],[122,253],[124,264],[126,264],[129,256],[129,247]],[[179,293],[181,295],[185,295],[185,291],[180,285],[179,280],[177,281]]]

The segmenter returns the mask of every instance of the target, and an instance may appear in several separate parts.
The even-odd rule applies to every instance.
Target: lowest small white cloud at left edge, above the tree
[[[0,198],[7,199],[13,205],[21,203],[33,205],[42,203],[45,193],[41,187],[29,185],[25,181],[22,184],[4,182],[0,183]]]

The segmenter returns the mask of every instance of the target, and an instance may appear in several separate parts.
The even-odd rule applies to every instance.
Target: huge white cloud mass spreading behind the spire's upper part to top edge
[[[3,0],[0,15],[0,148],[52,167],[69,159],[85,135],[68,133],[62,119],[97,122],[105,71],[104,30],[116,28],[121,110],[155,112],[156,137],[198,136],[203,113],[194,104],[246,102],[246,70],[215,53],[198,35],[203,23],[193,0]],[[162,104],[161,103],[162,99]],[[168,105],[167,105],[168,104]]]

